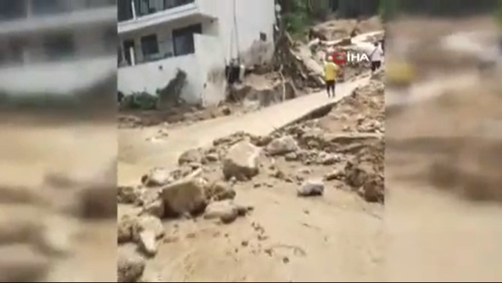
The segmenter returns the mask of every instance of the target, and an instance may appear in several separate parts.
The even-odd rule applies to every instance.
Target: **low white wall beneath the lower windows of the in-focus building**
[[[178,68],[187,73],[187,85],[183,88],[183,99],[191,104],[200,103],[203,83],[195,54],[119,68],[118,90],[125,95],[139,91],[155,94],[158,88],[167,86],[176,75]]]

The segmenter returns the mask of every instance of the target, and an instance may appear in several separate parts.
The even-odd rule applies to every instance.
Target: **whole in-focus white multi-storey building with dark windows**
[[[216,104],[230,59],[249,66],[273,54],[274,0],[119,0],[118,9],[125,95],[154,94],[179,68],[187,73],[185,101]]]

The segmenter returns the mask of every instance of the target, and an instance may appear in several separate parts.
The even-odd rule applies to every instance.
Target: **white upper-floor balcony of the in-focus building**
[[[209,0],[165,0],[149,6],[147,0],[119,0],[118,33],[157,26],[180,19],[216,18],[214,3]],[[160,3],[160,4],[159,4]]]

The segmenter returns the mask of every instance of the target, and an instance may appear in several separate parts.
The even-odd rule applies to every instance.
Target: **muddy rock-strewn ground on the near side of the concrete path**
[[[120,280],[380,277],[383,111],[371,81],[270,137],[236,133],[120,187]]]

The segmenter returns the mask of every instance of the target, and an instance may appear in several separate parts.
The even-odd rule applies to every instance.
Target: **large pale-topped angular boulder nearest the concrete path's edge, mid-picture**
[[[258,159],[260,148],[249,142],[234,144],[223,159],[223,175],[225,179],[236,177],[239,181],[245,181],[258,175]]]

